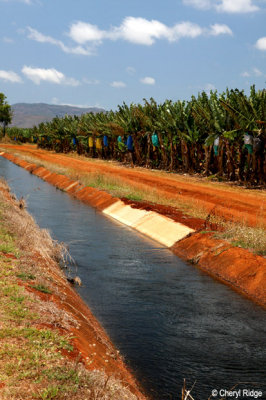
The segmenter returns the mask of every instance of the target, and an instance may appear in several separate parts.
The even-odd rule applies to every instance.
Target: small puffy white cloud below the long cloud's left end
[[[67,78],[62,72],[57,71],[55,68],[33,68],[25,65],[22,68],[22,73],[36,85],[39,85],[42,81],[58,85],[79,85],[76,79]]]

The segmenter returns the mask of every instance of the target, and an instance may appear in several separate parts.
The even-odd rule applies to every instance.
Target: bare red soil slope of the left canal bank
[[[40,257],[36,255],[36,262],[40,263]],[[104,332],[101,325],[95,319],[88,306],[83,302],[80,296],[72,289],[66,280],[60,277],[58,267],[55,264],[52,273],[47,272],[47,275],[52,275],[56,279],[56,288],[59,295],[46,294],[34,289],[31,284],[23,281],[18,281],[29,292],[37,295],[42,301],[50,301],[70,314],[77,323],[76,327],[71,327],[68,331],[60,327],[56,327],[62,334],[72,334],[71,344],[74,350],[65,352],[64,355],[70,359],[79,360],[84,366],[90,370],[102,370],[108,376],[114,376],[122,381],[130,390],[139,396],[139,399],[145,399],[141,394],[133,375],[125,367],[120,355],[110,341],[107,334]],[[49,328],[55,329],[51,324],[39,326],[40,329]]]

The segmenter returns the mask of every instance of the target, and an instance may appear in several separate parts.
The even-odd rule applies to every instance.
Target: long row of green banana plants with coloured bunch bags
[[[190,101],[161,104],[144,99],[123,103],[117,111],[66,115],[28,130],[10,128],[8,134],[56,152],[263,185],[266,90],[202,92]]]

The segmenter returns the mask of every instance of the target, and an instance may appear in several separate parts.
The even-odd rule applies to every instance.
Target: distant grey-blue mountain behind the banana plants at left
[[[86,114],[89,112],[98,113],[104,111],[102,108],[89,107],[81,108],[74,106],[58,106],[45,103],[17,103],[12,106],[13,118],[9,126],[19,128],[32,128],[41,122],[51,121],[54,117],[64,117],[68,115]]]

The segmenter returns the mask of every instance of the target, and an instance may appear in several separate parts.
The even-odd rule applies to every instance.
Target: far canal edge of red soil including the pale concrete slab
[[[184,261],[266,308],[264,257],[233,247],[226,241],[213,238],[212,233],[195,231],[159,213],[132,208],[103,190],[84,186],[66,175],[52,173],[13,154],[1,152],[0,155],[105,215],[156,240]]]

